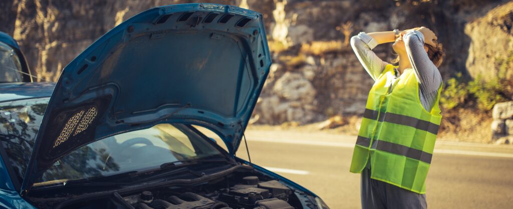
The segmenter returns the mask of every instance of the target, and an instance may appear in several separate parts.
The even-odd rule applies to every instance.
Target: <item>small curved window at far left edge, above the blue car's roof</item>
[[[9,45],[0,42],[0,83],[22,82],[22,65]]]

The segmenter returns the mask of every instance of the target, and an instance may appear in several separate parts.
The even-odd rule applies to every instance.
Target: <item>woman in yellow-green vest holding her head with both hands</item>
[[[393,42],[391,63],[372,52]],[[361,173],[362,208],[427,208],[425,179],[442,116],[443,49],[425,27],[364,33],[351,46],[372,86],[350,172]]]

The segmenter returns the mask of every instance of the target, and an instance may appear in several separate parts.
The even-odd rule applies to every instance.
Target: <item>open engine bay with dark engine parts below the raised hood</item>
[[[246,166],[249,167],[249,166]],[[55,196],[54,196],[55,197]],[[313,198],[313,197],[311,197]],[[48,201],[31,198],[38,208],[60,209],[301,209],[317,208],[310,196],[254,169],[237,170],[191,185],[119,191],[95,198]]]

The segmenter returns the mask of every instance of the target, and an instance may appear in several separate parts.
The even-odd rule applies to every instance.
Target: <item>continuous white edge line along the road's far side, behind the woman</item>
[[[314,146],[330,146],[330,147],[354,147],[354,143],[346,142],[323,142],[323,141],[309,141],[309,140],[293,140],[293,139],[272,139],[272,138],[248,138],[248,141],[271,142],[271,143],[285,143],[285,144],[301,144],[301,145],[314,145]],[[490,153],[485,151],[467,151],[455,149],[437,149],[434,153],[452,154],[452,155],[469,155],[469,156],[486,156],[486,157],[501,157],[513,158],[513,154],[507,153]]]

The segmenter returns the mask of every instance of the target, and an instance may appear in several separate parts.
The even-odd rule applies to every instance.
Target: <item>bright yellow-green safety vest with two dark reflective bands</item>
[[[372,86],[354,146],[350,172],[361,173],[370,156],[370,178],[424,194],[442,116],[437,101],[422,106],[413,69],[399,78],[389,64]]]

